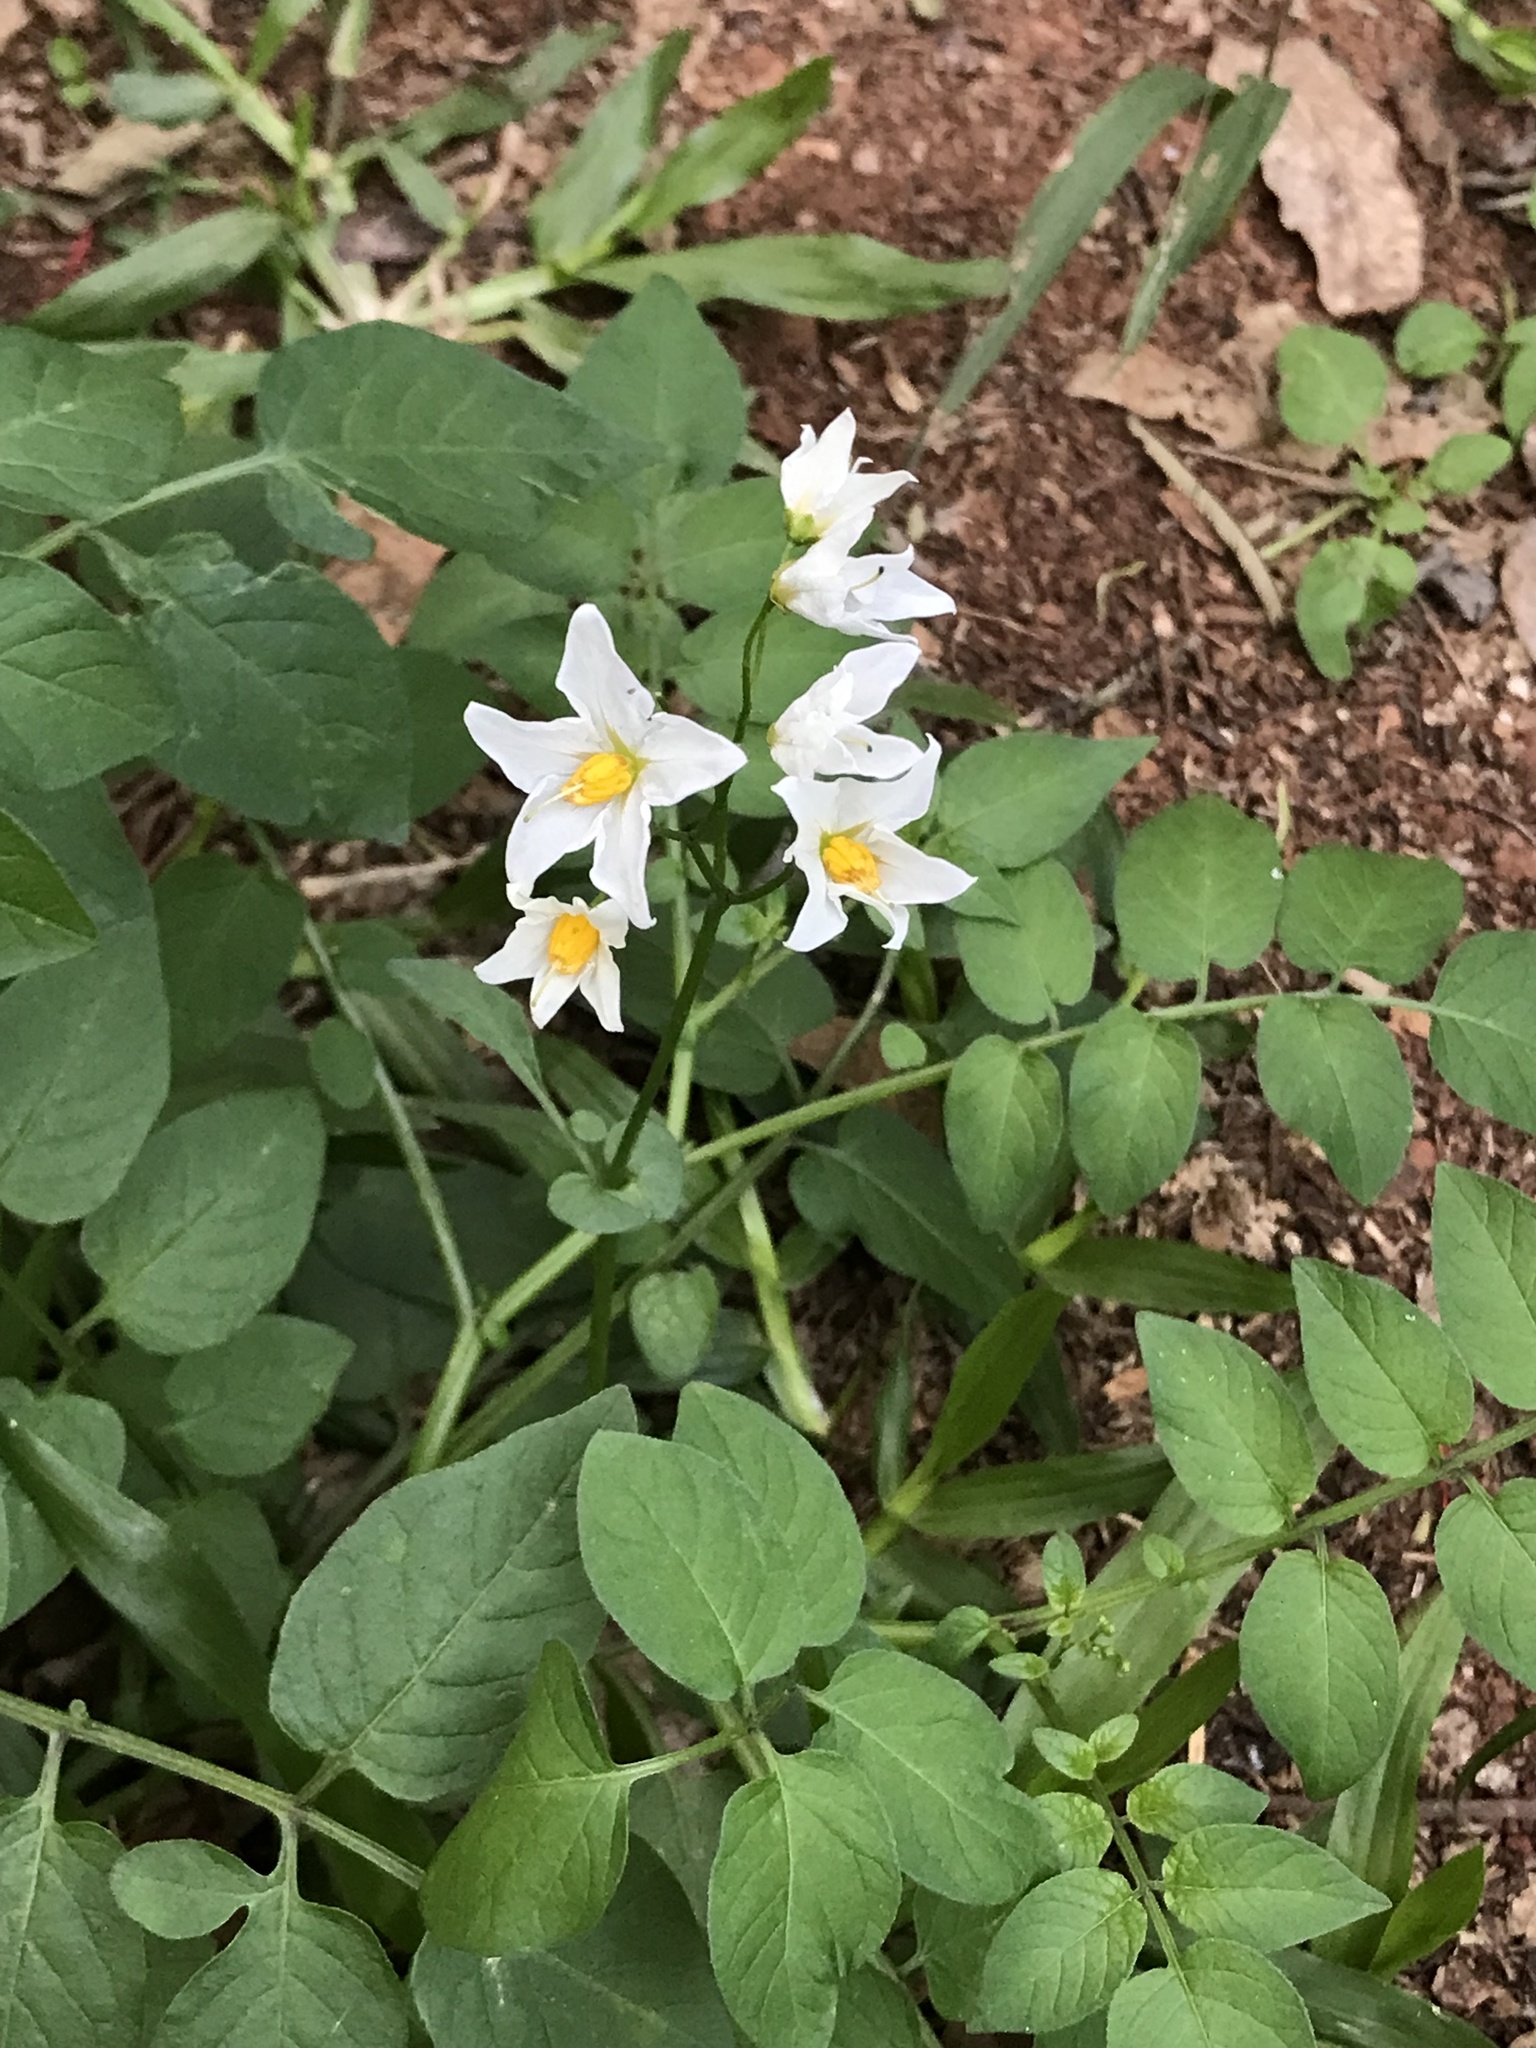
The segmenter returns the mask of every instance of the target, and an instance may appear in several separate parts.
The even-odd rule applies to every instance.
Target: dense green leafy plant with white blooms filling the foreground
[[[1393,1976],[1479,1898],[1481,1864],[1411,1866],[1464,1638],[1536,1683],[1536,1483],[1485,1470],[1536,1434],[1536,1204],[1440,1167],[1436,1315],[1124,1219],[1247,1057],[1372,1202],[1401,1010],[1536,1130],[1536,936],[1214,797],[1126,838],[1151,741],[1006,731],[934,784],[918,715],[1006,725],[934,678],[887,676],[877,735],[926,817],[774,782],[887,645],[874,580],[887,618],[942,594],[856,537],[813,561],[815,492],[786,537],[670,279],[563,391],[373,322],[276,350],[246,422],[178,360],[0,334],[0,1585],[14,1622],[80,1573],[121,1659],[102,1718],[0,1696],[0,2040],[1479,2040]],[[338,498],[446,549],[397,647],[324,573],[367,547]],[[500,844],[350,922],[285,860],[403,846],[481,766],[471,700],[553,748],[582,633],[641,737],[528,815],[649,788],[653,858],[625,842],[598,930],[565,897],[606,842],[557,850],[518,895],[547,971],[498,958],[541,1016],[616,987],[606,1038],[471,973]],[[653,733],[692,795],[643,782]],[[141,764],[193,799],[154,879],[111,803]],[[889,1108],[918,1090],[942,1143]],[[958,1339],[926,1434],[895,1346],[862,1528],[791,1313],[844,1253]],[[1077,1448],[1073,1296],[1141,1311],[1153,1446]],[[975,1466],[1016,1411],[1044,1454]],[[1317,1505],[1339,1446],[1370,1479]],[[1393,1616],[1327,1530],[1430,1481],[1440,1589]],[[1090,1577],[1073,1532],[1118,1516]],[[987,1538],[1044,1542],[1036,1602],[956,1548]],[[1237,1647],[1188,1659],[1257,1559]],[[1305,1833],[1182,1761],[1239,1681]],[[244,1853],[147,1839],[174,1778]]]

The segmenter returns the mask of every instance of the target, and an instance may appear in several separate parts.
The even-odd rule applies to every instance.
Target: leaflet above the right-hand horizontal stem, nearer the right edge
[[[1456,930],[1464,893],[1444,860],[1313,846],[1286,874],[1280,944],[1313,975],[1364,967],[1399,987],[1421,975]]]

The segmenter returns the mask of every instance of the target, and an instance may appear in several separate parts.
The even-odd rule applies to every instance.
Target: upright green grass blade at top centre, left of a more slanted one
[[[604,229],[616,225],[612,215],[655,143],[662,102],[676,84],[688,41],[676,29],[662,37],[586,117],[555,176],[528,205],[539,262],[580,270],[592,256],[606,254]]]

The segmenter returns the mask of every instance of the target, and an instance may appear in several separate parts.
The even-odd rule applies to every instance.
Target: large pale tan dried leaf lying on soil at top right
[[[1264,49],[1223,37],[1219,86],[1264,70]],[[1401,137],[1321,43],[1282,43],[1270,76],[1290,106],[1260,158],[1280,219],[1317,258],[1317,295],[1335,319],[1386,313],[1423,291],[1423,219],[1397,166]]]

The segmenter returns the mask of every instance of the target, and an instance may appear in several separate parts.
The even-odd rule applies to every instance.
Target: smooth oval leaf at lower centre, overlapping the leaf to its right
[[[692,1444],[594,1438],[578,1526],[602,1606],[653,1665],[707,1700],[776,1675],[809,1640],[786,1538]]]

